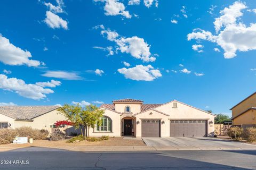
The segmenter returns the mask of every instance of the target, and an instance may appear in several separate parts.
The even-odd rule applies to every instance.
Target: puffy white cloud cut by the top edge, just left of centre
[[[122,15],[125,18],[132,18],[132,15],[130,15],[129,11],[125,11],[124,4],[119,2],[118,0],[94,0],[94,2],[105,3],[105,15]]]

